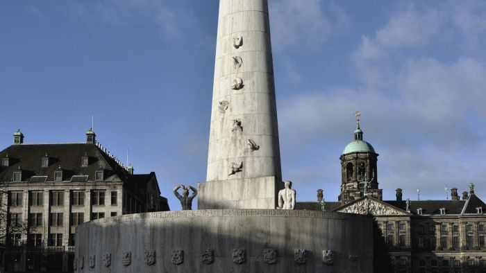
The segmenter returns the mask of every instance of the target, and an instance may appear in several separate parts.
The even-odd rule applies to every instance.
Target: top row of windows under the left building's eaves
[[[51,191],[50,205],[51,206],[64,206],[64,191]],[[118,193],[112,191],[111,204],[117,205]],[[8,204],[10,206],[22,206],[22,199],[24,193],[22,191],[10,191]],[[28,195],[28,204],[30,206],[44,206],[44,192],[43,191],[31,191]],[[73,206],[84,206],[85,204],[85,191],[72,191],[71,192],[71,204]],[[92,205],[104,205],[105,204],[105,191],[92,191],[91,192],[91,204]]]

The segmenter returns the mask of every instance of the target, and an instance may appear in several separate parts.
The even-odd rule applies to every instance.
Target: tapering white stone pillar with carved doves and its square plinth
[[[267,0],[221,0],[198,209],[275,209],[283,188]]]

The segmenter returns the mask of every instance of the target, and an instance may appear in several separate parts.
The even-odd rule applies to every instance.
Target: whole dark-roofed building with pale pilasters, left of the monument
[[[1,272],[72,272],[79,224],[169,210],[155,173],[135,175],[93,130],[66,144],[25,144],[17,131],[0,159]]]

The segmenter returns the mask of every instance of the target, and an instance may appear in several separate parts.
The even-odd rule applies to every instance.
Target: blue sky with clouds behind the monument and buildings
[[[270,0],[283,178],[340,191],[362,112],[387,200],[486,199],[486,2]],[[135,173],[206,179],[218,1],[0,2],[0,148],[98,140]]]

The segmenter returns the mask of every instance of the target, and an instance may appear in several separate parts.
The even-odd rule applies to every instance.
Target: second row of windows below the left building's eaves
[[[77,226],[84,222],[84,215],[85,213],[82,212],[74,212],[71,213],[71,225]],[[112,211],[110,216],[116,216],[117,213]],[[10,219],[10,227],[22,227],[22,213],[9,213]],[[50,213],[49,224],[51,227],[62,227],[64,226],[64,213]],[[91,214],[91,219],[100,219],[105,218],[105,213],[103,212],[96,212]],[[42,222],[42,213],[30,213],[28,217],[28,226],[29,227],[40,227],[44,225]]]

